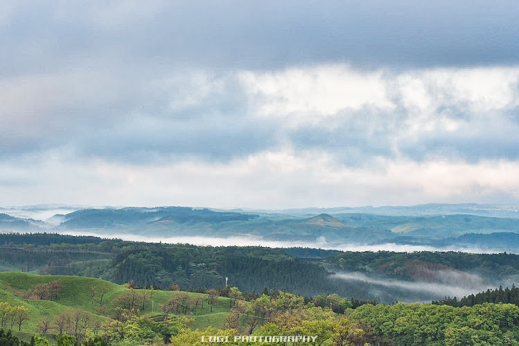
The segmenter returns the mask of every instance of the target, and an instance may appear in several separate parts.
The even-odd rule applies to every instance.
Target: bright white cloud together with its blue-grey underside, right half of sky
[[[327,65],[241,77],[249,108],[282,119],[295,147],[327,148],[349,165],[373,156],[517,158],[517,67],[394,75]]]

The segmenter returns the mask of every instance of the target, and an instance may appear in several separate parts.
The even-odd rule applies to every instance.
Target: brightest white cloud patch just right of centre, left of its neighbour
[[[346,65],[240,73],[257,111],[299,123],[318,122],[343,110],[392,109],[381,71],[359,72]]]

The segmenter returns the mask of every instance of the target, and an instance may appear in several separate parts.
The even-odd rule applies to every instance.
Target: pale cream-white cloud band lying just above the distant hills
[[[260,152],[227,163],[130,165],[59,153],[0,165],[0,204],[288,208],[519,199],[519,163],[416,163],[378,158],[346,167],[327,152]],[[35,174],[37,172],[37,174]]]

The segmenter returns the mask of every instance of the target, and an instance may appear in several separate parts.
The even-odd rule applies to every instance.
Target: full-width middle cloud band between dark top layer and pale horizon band
[[[347,166],[517,158],[517,67],[106,73],[5,78],[4,157],[60,150],[127,163],[229,162],[294,149]]]

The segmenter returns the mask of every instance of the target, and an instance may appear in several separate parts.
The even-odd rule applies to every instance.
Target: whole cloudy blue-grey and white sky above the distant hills
[[[0,206],[519,203],[519,2],[1,1]]]

